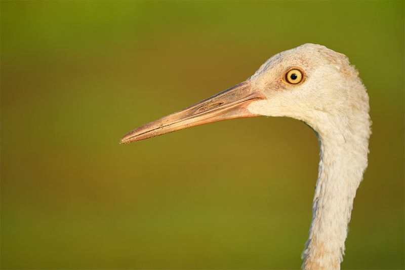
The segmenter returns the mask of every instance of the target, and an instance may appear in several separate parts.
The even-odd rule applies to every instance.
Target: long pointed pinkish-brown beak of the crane
[[[145,124],[125,135],[119,143],[130,143],[169,132],[222,120],[255,117],[248,105],[265,96],[252,89],[250,81],[231,87],[188,108]]]

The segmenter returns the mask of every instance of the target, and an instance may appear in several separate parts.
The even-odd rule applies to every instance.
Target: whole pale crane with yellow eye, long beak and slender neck
[[[125,135],[130,143],[211,122],[266,115],[307,123],[320,161],[303,269],[340,269],[353,200],[367,168],[369,96],[348,58],[304,44],[272,56],[248,80]]]

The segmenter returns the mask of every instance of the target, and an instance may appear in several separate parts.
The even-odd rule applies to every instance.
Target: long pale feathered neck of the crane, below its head
[[[353,200],[368,163],[369,119],[363,123],[317,133],[319,172],[303,269],[340,269]]]

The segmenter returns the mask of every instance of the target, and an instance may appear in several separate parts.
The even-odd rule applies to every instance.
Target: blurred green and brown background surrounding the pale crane
[[[296,269],[318,142],[251,118],[128,131],[304,43],[370,95],[343,269],[404,265],[404,2],[1,1],[1,267]]]

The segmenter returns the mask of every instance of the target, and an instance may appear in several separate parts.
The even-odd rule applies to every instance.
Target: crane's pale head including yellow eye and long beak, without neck
[[[147,123],[129,132],[120,143],[259,115],[295,118],[321,132],[325,125],[342,122],[352,110],[368,115],[368,104],[358,72],[345,55],[304,44],[272,56],[245,82]]]

